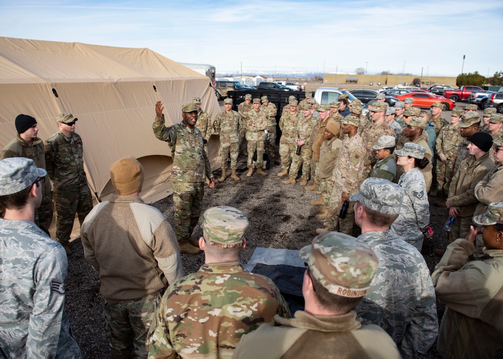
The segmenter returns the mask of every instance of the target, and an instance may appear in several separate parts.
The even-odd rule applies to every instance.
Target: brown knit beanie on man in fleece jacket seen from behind
[[[126,156],[112,163],[110,177],[117,194],[127,196],[141,189],[145,174],[136,158]]]

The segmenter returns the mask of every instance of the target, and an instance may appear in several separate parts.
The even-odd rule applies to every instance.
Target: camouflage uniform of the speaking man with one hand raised
[[[186,243],[199,221],[205,178],[213,177],[203,136],[197,127],[191,130],[183,122],[164,126],[164,115],[155,117],[152,129],[155,137],[167,142],[171,149],[175,234],[179,243]]]

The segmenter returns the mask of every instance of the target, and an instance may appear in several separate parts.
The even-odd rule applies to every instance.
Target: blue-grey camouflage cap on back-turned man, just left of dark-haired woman
[[[370,177],[363,181],[360,191],[349,200],[358,201],[368,209],[382,214],[400,214],[404,193],[400,186],[384,178]]]

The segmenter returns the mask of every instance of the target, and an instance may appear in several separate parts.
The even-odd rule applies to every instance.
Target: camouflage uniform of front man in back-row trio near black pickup
[[[248,111],[246,114],[246,140],[248,141],[248,168],[253,167],[253,156],[257,150],[257,168],[264,162],[264,142],[266,140],[267,115],[264,111]]]

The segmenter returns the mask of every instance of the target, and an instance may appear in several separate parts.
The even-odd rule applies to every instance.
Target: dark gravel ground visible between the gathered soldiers
[[[227,178],[224,183],[216,182],[213,189],[206,188],[203,205],[203,209],[218,205],[233,206],[246,214],[250,226],[246,232],[247,246],[241,253],[241,261],[247,262],[256,247],[300,249],[310,243],[316,228],[321,227],[321,221],[314,217],[317,214],[316,207],[309,205],[309,201],[317,199],[315,193],[305,191],[298,185],[300,181],[296,185],[283,185],[282,179],[276,175],[281,170],[278,162],[273,163],[267,171],[268,176],[254,174],[251,178],[246,177],[245,160],[245,157],[239,157],[238,175],[241,181],[234,182]],[[221,171],[216,170],[214,175],[218,178]],[[431,203],[434,201],[435,198],[431,199]],[[154,203],[154,206],[173,225],[173,196]],[[442,226],[447,218],[447,210],[431,205],[430,211],[431,226],[435,231],[430,247],[444,247],[447,236]],[[353,235],[359,234],[360,230],[355,226]],[[193,236],[202,236],[200,226],[196,227]],[[83,256],[80,239],[73,241],[70,247],[73,254],[68,258],[65,309],[83,357],[106,358],[109,351],[107,334],[103,329],[100,281]],[[440,258],[435,254],[425,254],[425,259],[432,271]],[[204,262],[204,254],[182,254],[182,262],[186,274],[196,272]],[[441,319],[445,304],[439,300],[437,310]],[[436,343],[423,357],[440,357]]]

